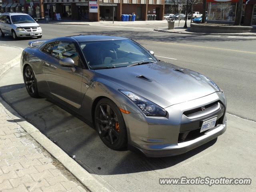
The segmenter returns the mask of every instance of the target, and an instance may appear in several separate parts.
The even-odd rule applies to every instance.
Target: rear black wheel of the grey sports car
[[[33,98],[39,98],[37,81],[30,66],[26,66],[23,77],[28,94]]]

